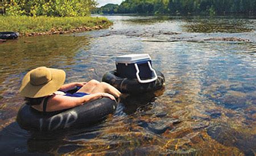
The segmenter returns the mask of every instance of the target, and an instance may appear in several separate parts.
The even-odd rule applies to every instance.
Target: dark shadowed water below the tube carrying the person
[[[76,149],[82,140],[92,140],[101,133],[100,126],[79,130],[63,130],[52,133],[27,132],[19,128],[16,122],[7,125],[0,131],[1,140],[10,140],[9,144],[1,142],[1,151],[7,155],[22,153],[59,153],[64,154]],[[13,146],[20,144],[20,146]]]

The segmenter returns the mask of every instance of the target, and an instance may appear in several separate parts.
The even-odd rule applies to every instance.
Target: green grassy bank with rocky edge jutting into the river
[[[0,16],[0,31],[17,31],[26,36],[88,31],[111,25],[112,22],[106,18],[90,16]]]

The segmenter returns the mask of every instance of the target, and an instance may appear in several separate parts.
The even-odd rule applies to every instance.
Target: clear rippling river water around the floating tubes
[[[1,154],[256,153],[255,17],[107,16],[109,29],[0,44]],[[122,54],[148,53],[166,78],[152,96],[123,95],[104,123],[38,134],[15,121],[22,77],[63,69],[67,83],[101,81]]]

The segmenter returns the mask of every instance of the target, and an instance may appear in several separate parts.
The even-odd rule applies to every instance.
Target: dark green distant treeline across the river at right
[[[96,14],[256,14],[256,0],[126,0],[94,9]]]

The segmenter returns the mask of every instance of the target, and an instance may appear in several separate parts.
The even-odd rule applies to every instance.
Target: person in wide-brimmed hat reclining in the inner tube
[[[32,69],[24,76],[19,92],[25,101],[37,111],[46,113],[60,111],[100,98],[119,98],[121,92],[105,82],[94,79],[89,82],[73,82],[63,85],[65,71],[46,68],[44,66]],[[66,91],[74,87],[80,89],[71,94]]]

